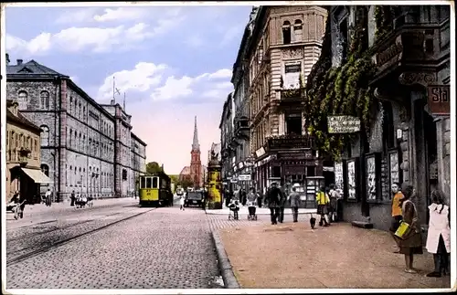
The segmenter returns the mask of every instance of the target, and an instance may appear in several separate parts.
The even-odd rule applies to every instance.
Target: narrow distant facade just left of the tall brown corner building
[[[220,155],[221,155],[221,178],[226,189],[232,189],[232,165],[235,164],[235,151],[232,147],[233,141],[233,100],[232,93],[228,94],[224,107],[222,108],[222,115],[220,117]]]

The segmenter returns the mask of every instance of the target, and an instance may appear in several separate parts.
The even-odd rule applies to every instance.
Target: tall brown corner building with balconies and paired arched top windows
[[[326,17],[327,10],[314,5],[260,6],[251,14],[234,81],[240,93],[236,128],[244,136],[248,129],[242,115],[249,111],[245,142],[250,142],[250,152],[242,154],[255,158],[258,189],[271,181],[303,184],[306,177],[322,174],[303,128],[301,90],[319,58]],[[249,106],[242,103],[246,99]]]

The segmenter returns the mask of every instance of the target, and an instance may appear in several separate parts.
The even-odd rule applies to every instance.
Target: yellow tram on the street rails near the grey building
[[[142,175],[138,180],[140,205],[173,205],[171,179],[165,173]]]

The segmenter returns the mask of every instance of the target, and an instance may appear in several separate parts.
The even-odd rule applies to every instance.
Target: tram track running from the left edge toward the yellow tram
[[[84,236],[90,235],[90,234],[92,234],[92,233],[96,233],[96,232],[101,231],[102,229],[105,229],[105,228],[107,228],[107,227],[112,227],[112,226],[114,226],[114,225],[116,225],[116,224],[121,223],[122,221],[127,221],[127,220],[132,219],[132,218],[134,218],[134,217],[136,217],[136,216],[142,216],[143,214],[146,214],[146,213],[149,213],[149,212],[151,212],[151,211],[154,211],[155,209],[157,209],[157,208],[152,208],[152,209],[149,209],[149,210],[146,210],[146,211],[142,211],[142,212],[139,212],[139,213],[137,213],[137,214],[133,214],[132,216],[121,217],[120,219],[117,219],[117,220],[115,220],[115,221],[113,221],[113,222],[110,222],[110,223],[108,223],[108,224],[106,224],[106,225],[103,225],[103,226],[101,226],[101,227],[95,227],[95,228],[93,228],[93,229],[90,229],[90,230],[87,230],[87,231],[83,231],[83,232],[81,232],[80,234],[73,235],[73,236],[70,236],[70,237],[66,237],[66,238],[63,238],[63,239],[59,239],[59,240],[57,240],[57,241],[55,241],[55,242],[50,243],[49,245],[47,245],[47,246],[45,246],[45,247],[37,248],[37,249],[35,249],[35,250],[29,251],[29,252],[27,252],[27,253],[25,253],[25,254],[18,255],[18,256],[13,257],[13,258],[6,258],[6,265],[7,265],[7,266],[15,265],[15,264],[17,264],[17,263],[19,263],[19,262],[22,262],[22,261],[24,261],[24,260],[27,260],[28,258],[33,258],[33,257],[38,256],[38,255],[41,254],[41,253],[47,252],[47,251],[50,250],[50,249],[58,248],[58,247],[60,247],[60,246],[63,246],[63,245],[65,245],[65,244],[68,244],[68,243],[70,243],[70,242],[72,242],[72,241],[74,241],[74,240],[76,240],[76,239],[78,239],[78,238],[80,238],[80,237],[84,237]],[[133,209],[133,210],[134,210],[134,209]],[[133,211],[133,210],[129,210],[129,211],[127,211],[127,213],[128,213],[128,212],[131,212],[131,211]],[[89,221],[97,221],[97,220],[101,220],[101,219],[106,218],[106,217],[116,216],[116,215],[119,215],[119,214],[122,214],[122,213],[125,213],[125,212],[117,212],[117,213],[115,213],[115,214],[112,214],[112,215],[109,215],[109,216],[103,216],[103,217],[98,218],[98,219],[86,220],[86,221],[84,221],[84,222],[82,222],[82,223],[78,223],[78,224],[71,225],[71,226],[73,226],[73,227],[74,227],[74,226],[80,226],[81,224],[88,223]],[[68,227],[67,227],[67,228],[68,228]],[[58,228],[58,229],[65,229],[65,228]],[[53,229],[52,231],[57,231],[58,229]],[[52,231],[49,231],[49,232],[52,232]],[[48,233],[49,233],[49,232],[48,232]],[[45,234],[46,234],[46,233],[45,233]],[[38,236],[39,236],[39,235],[38,235]],[[20,250],[18,250],[18,251],[20,252],[20,251],[22,251],[22,250],[23,250],[23,249],[20,249]],[[16,252],[18,252],[18,251],[13,251],[13,252],[11,252],[11,251],[6,250],[6,252],[7,252],[7,253],[9,252],[10,254],[11,254],[11,253],[16,253]]]

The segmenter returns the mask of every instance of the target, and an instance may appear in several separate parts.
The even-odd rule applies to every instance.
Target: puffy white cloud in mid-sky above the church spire
[[[98,100],[112,98],[112,77],[115,77],[116,88],[121,92],[143,92],[155,101],[224,100],[233,90],[228,81],[231,77],[231,70],[228,68],[195,77],[176,77],[170,75],[172,72],[173,69],[165,64],[140,62],[132,70],[125,69],[107,77],[98,91]]]

